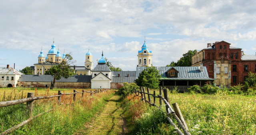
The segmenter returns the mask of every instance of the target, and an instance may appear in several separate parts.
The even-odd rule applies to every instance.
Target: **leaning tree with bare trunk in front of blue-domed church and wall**
[[[70,54],[66,54],[65,59],[66,60],[63,59],[59,65],[52,66],[52,68],[46,71],[46,74],[54,76],[51,89],[54,87],[56,79],[59,80],[61,77],[68,78],[74,75],[74,69],[71,69],[70,65],[74,64],[76,61],[73,60]]]

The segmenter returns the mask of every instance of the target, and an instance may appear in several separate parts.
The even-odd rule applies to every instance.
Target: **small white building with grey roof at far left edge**
[[[24,74],[9,65],[0,67],[0,87],[16,87],[21,75]]]

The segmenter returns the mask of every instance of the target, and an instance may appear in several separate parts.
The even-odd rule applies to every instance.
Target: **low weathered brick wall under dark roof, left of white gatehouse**
[[[18,81],[18,86],[20,87],[50,87],[51,82],[27,82]],[[60,88],[90,88],[90,82],[55,82],[54,87]]]

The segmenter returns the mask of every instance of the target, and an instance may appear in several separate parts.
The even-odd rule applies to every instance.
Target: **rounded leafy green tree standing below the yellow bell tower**
[[[161,75],[159,75],[159,71],[156,70],[155,67],[147,67],[140,73],[138,79],[135,80],[135,83],[138,86],[158,89],[160,77]]]

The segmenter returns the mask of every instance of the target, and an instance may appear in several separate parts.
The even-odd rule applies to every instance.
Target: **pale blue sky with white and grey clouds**
[[[188,50],[225,41],[256,54],[255,0],[1,0],[0,67],[23,69],[46,56],[54,38],[60,53],[94,67],[104,57],[135,71],[146,37],[153,66],[177,62]]]

